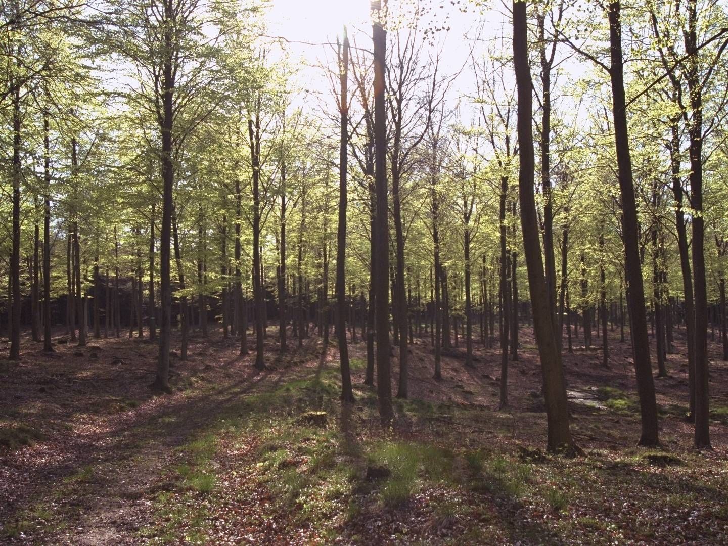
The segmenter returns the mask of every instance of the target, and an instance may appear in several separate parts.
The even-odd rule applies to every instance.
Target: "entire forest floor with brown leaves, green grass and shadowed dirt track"
[[[24,338],[19,363],[0,361],[0,543],[727,544],[719,347],[711,343],[713,450],[691,448],[681,339],[670,376],[655,381],[663,448],[644,449],[629,345],[615,334],[609,368],[599,339],[588,350],[575,340],[565,355],[585,451],[574,459],[542,451],[526,326],[507,410],[497,411],[498,349],[476,344],[465,368],[461,340],[435,381],[427,336],[411,349],[410,398],[395,400],[387,430],[363,385],[361,342],[349,346],[357,402],[342,406],[335,344],[321,356],[317,338],[300,349],[291,339],[279,355],[274,328],[261,373],[221,331],[193,336],[188,361],[173,355],[165,396],[149,390],[157,349],[146,339],[78,348],[59,335],[45,355]]]

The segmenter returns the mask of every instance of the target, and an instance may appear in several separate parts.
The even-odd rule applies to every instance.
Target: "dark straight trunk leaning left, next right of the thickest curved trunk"
[[[617,168],[622,198],[622,234],[625,244],[626,280],[630,307],[630,333],[634,357],[637,391],[640,399],[642,432],[641,446],[660,443],[657,434],[657,402],[649,357],[649,338],[644,304],[644,286],[638,249],[639,225],[632,178],[632,159],[627,128],[625,101],[624,61],[622,60],[622,23],[620,1],[609,3],[609,42],[612,80],[612,113],[614,116],[614,143],[617,150]]]

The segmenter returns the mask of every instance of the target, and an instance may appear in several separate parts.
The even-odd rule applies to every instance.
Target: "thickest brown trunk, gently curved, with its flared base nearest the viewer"
[[[555,336],[553,311],[549,308],[548,287],[544,275],[539,245],[539,227],[534,199],[534,145],[531,127],[532,82],[529,68],[528,20],[526,2],[513,2],[513,63],[518,90],[518,195],[521,202],[521,231],[523,253],[531,290],[534,331],[539,347],[543,373],[544,396],[550,451],[574,451],[569,430],[569,408],[566,404],[566,381],[563,376],[561,352]]]

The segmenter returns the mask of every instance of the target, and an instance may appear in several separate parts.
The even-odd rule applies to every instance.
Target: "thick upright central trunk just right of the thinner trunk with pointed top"
[[[376,248],[374,261],[376,291],[376,385],[379,395],[379,415],[390,421],[392,412],[392,379],[389,360],[389,223],[387,191],[387,111],[384,98],[384,73],[387,62],[387,31],[381,20],[381,0],[373,0],[372,41],[374,50],[374,149],[376,187]]]

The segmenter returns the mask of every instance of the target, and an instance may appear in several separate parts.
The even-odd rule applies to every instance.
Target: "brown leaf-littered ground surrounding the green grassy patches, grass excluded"
[[[616,337],[609,340],[612,348],[609,368],[601,365],[599,339],[593,340],[596,349],[589,351],[579,347],[581,340],[574,340],[574,354],[564,357],[577,441],[585,450],[602,454],[604,461],[616,460],[615,457],[620,456],[622,451],[632,448],[639,436],[636,416],[606,411],[603,400],[593,396],[596,387],[602,386],[626,392],[635,390],[629,346],[619,342],[617,331],[611,335]],[[545,413],[542,397],[538,394],[541,381],[537,352],[529,328],[521,328],[520,336],[519,360],[510,363],[510,408],[497,414],[498,349],[483,349],[476,344],[475,368],[468,369],[463,365],[464,343],[461,340],[459,348],[443,357],[443,380],[435,381],[432,379],[429,336],[416,339],[411,356],[411,400],[424,400],[440,408],[453,408],[453,411],[424,421],[411,419],[400,411],[395,431],[388,434],[448,443],[463,449],[488,446],[509,453],[515,450],[515,446],[544,446]],[[321,373],[324,368],[336,365],[335,349],[328,352],[325,360],[317,357],[319,344],[316,339],[307,340],[303,349],[292,348],[290,355],[280,359],[275,351],[276,337],[271,329],[267,340],[269,369],[263,373],[253,371],[251,356],[237,357],[237,343],[223,340],[219,331],[211,334],[207,341],[194,337],[188,362],[183,363],[173,357],[176,390],[173,395],[164,397],[152,396],[148,388],[153,379],[157,351],[156,345],[149,341],[125,337],[90,339],[85,348],[56,344],[56,352],[45,355],[40,344],[33,344],[25,338],[20,363],[0,361],[0,430],[24,425],[41,432],[41,438],[32,446],[0,447],[0,527],[4,527],[0,531],[0,543],[134,545],[149,542],[149,536],[145,537],[141,531],[155,524],[158,515],[154,508],[156,496],[160,491],[173,488],[169,469],[181,460],[180,446],[194,438],[199,430],[205,430],[220,419],[226,411],[237,411],[248,395],[272,391],[286,381],[309,378]],[[692,425],[680,415],[687,405],[687,365],[679,333],[678,338],[678,354],[668,357],[670,377],[655,381],[658,403],[662,408],[669,408],[660,421],[660,434],[670,453],[692,456]],[[63,339],[67,336],[59,335],[56,341]],[[295,339],[291,340],[293,346],[295,343]],[[352,357],[364,357],[362,343],[351,347]],[[3,342],[0,353],[6,351],[7,342]],[[713,407],[728,405],[728,365],[719,357],[718,345],[711,343]],[[392,373],[395,383],[396,372],[395,366]],[[354,371],[354,381],[356,384],[363,381],[361,368]],[[393,390],[396,392],[396,388]],[[347,434],[355,430],[355,440],[361,441],[379,432],[372,412],[366,413],[371,397],[362,400],[361,394],[357,396],[360,403],[355,406],[353,418],[341,414],[337,419],[342,430],[345,429]],[[452,414],[458,410],[471,411],[467,414],[470,417],[463,420],[456,415],[453,419]],[[694,477],[710,482],[711,469],[714,469],[716,480],[725,484],[728,427],[712,422],[711,438],[714,449],[700,455],[705,464],[701,463],[702,466],[695,470]],[[254,437],[241,444],[221,436],[215,465],[218,475],[226,478],[218,489],[223,496],[223,505],[234,505],[235,509],[226,514],[225,521],[221,517],[219,525],[215,523],[218,534],[207,543],[329,542],[331,539],[320,537],[311,526],[301,525],[290,513],[281,510],[275,495],[255,476],[234,471],[242,462],[254,460],[258,443]],[[629,469],[625,469],[623,474],[620,472],[622,470],[617,472],[618,476],[630,480]],[[684,472],[687,478],[690,472],[694,472],[692,467]],[[669,491],[669,488],[670,483],[666,483],[665,489]],[[230,491],[237,492],[234,502],[227,502],[224,498]],[[240,494],[241,491],[244,494]],[[583,504],[569,507],[569,517],[599,515],[615,521],[631,518],[623,513],[627,508],[601,499],[599,495],[602,493],[594,491],[589,494],[587,491]],[[689,493],[695,494],[695,491]],[[538,523],[540,509],[535,505],[513,499],[504,504],[496,495],[488,497],[486,502],[470,493],[463,494],[462,502],[487,506],[483,510],[492,513],[488,517],[508,522],[505,531],[494,531],[492,537],[488,541],[483,539],[483,542],[457,539],[464,529],[470,529],[472,522],[455,515],[444,534],[441,529],[434,535],[427,534],[430,532],[427,531],[430,529],[427,518],[432,512],[428,506],[448,494],[448,491],[437,488],[419,491],[411,499],[406,517],[397,510],[375,509],[371,502],[366,501],[369,502],[368,508],[362,515],[351,518],[348,525],[335,527],[339,537],[336,542],[358,542],[362,534],[364,542],[370,544],[414,542],[414,539],[395,538],[400,536],[397,535],[400,527],[405,526],[410,529],[408,536],[419,537],[426,543],[444,543],[447,540],[454,540],[455,544],[601,543],[594,531],[591,534],[585,531],[583,537],[578,537],[574,533],[579,529],[559,538],[558,526],[561,523],[558,520],[563,516],[543,515],[549,525]],[[655,494],[658,494],[657,491]],[[664,494],[664,491],[659,494]],[[627,506],[629,501],[625,502]],[[719,505],[720,499],[716,502]],[[660,527],[652,531],[657,533],[652,534],[652,538],[646,534],[647,538],[641,539],[641,531],[633,531],[630,526],[625,527],[628,531],[625,531],[624,540],[617,539],[617,542],[718,544],[720,542],[713,542],[719,540],[715,537],[728,537],[728,513],[717,513],[712,506],[692,515],[690,510],[687,515],[664,515],[666,522],[670,518],[685,519],[683,523],[689,523],[688,531],[684,526],[679,533]],[[649,506],[640,507],[640,510],[650,509]],[[368,519],[371,518],[371,510],[378,510],[376,529],[371,528],[371,519]],[[478,517],[480,521],[488,521],[485,515]],[[648,512],[641,517],[662,521],[663,515],[649,515]],[[688,522],[689,518],[695,518],[695,521]],[[705,537],[712,538],[705,539],[701,534],[703,526],[711,526],[711,534]],[[523,530],[519,527],[526,529],[529,532],[527,536],[531,538],[519,539]],[[542,540],[534,542],[534,536],[540,536]],[[185,540],[174,539],[172,542]]]

